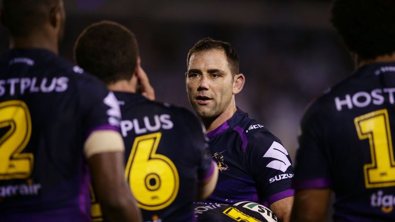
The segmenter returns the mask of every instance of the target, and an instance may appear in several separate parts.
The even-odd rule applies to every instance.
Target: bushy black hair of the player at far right
[[[395,1],[335,0],[331,22],[360,59],[395,51]]]

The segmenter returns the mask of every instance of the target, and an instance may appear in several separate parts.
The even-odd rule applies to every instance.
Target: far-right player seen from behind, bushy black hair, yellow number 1
[[[337,0],[332,24],[356,71],[307,110],[295,169],[294,221],[395,221],[395,1]]]

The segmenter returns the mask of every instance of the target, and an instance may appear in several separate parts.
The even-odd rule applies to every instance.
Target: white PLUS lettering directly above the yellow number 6
[[[152,121],[153,120],[153,121]],[[174,124],[171,116],[168,114],[154,115],[153,117],[145,116],[141,119],[122,120],[121,132],[123,137],[128,136],[128,132],[134,129],[135,134],[147,132],[156,132],[160,129],[171,130]]]

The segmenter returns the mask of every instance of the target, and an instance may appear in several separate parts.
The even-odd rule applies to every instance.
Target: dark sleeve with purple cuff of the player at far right
[[[295,189],[331,187],[328,155],[322,142],[322,115],[319,105],[313,104],[302,118],[293,183]]]

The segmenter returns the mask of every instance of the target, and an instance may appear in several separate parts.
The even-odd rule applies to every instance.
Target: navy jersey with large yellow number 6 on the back
[[[196,185],[211,160],[202,124],[185,108],[115,92],[125,143],[125,178],[144,221],[193,221]]]

